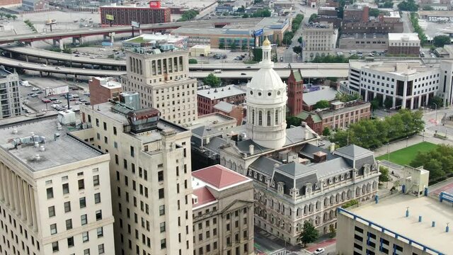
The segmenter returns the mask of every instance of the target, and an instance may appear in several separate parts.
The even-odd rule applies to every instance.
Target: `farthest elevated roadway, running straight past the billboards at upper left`
[[[216,23],[231,23],[231,22],[250,22],[260,21],[263,18],[212,18],[209,20],[202,21],[183,21],[183,22],[169,22],[169,23],[156,23],[156,24],[142,24],[139,29],[135,30],[166,30],[168,28],[179,28],[180,26],[203,26],[206,24]],[[52,39],[63,39],[63,38],[81,38],[84,36],[91,35],[109,35],[109,33],[132,33],[132,27],[130,26],[115,26],[106,28],[90,28],[90,29],[78,29],[71,31],[58,31],[51,33],[29,33],[23,35],[5,35],[0,36],[0,44],[7,42],[33,42],[37,40],[52,40]]]

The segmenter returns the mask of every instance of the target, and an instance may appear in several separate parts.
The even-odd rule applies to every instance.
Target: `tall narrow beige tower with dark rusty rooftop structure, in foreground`
[[[120,97],[121,98],[121,97]],[[117,254],[193,253],[190,130],[159,119],[154,108],[124,103],[81,106],[74,132],[111,154]]]

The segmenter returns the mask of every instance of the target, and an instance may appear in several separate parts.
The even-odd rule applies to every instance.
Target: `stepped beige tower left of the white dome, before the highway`
[[[163,52],[153,47],[127,50],[123,91],[139,92],[142,108],[156,108],[161,118],[172,123],[196,120],[197,79],[189,77],[188,57],[185,50]]]

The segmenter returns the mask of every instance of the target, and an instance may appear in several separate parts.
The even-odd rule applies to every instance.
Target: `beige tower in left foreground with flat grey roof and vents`
[[[0,254],[115,254],[109,161],[57,118],[1,129]]]

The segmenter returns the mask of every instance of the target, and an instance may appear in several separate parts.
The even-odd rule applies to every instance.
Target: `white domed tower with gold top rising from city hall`
[[[273,69],[270,41],[263,42],[260,69],[247,84],[247,135],[258,145],[280,149],[286,142],[286,84]]]

